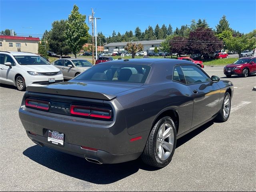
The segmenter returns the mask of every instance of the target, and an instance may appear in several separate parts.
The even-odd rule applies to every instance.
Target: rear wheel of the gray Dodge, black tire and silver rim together
[[[152,128],[141,155],[142,161],[153,167],[168,165],[176,148],[176,126],[169,116],[161,118]]]

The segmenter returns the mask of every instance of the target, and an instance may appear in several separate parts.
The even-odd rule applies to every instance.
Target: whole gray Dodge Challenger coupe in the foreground
[[[140,157],[162,168],[178,138],[228,120],[233,91],[232,82],[189,61],[115,60],[68,82],[28,87],[19,116],[39,146],[98,164]]]

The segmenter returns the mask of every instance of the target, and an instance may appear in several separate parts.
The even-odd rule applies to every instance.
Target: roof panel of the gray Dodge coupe
[[[136,65],[158,65],[161,63],[175,65],[175,64],[191,64],[190,61],[179,60],[179,59],[166,59],[166,58],[142,58],[142,59],[124,59],[124,60],[112,60],[109,62],[103,62],[97,65],[106,64],[136,64]]]

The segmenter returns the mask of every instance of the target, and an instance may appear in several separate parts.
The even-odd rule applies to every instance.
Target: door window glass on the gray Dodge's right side
[[[187,84],[210,82],[210,78],[195,66],[181,66]]]

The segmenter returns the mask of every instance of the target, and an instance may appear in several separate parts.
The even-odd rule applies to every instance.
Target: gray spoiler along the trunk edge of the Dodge
[[[54,94],[54,95],[63,95],[63,96],[74,96],[74,97],[82,97],[82,98],[90,98],[90,99],[99,99],[99,100],[108,100],[108,101],[116,98],[115,95],[109,95],[109,94],[104,94],[99,92],[70,90],[70,89],[52,89],[47,87],[28,86],[26,91]]]

